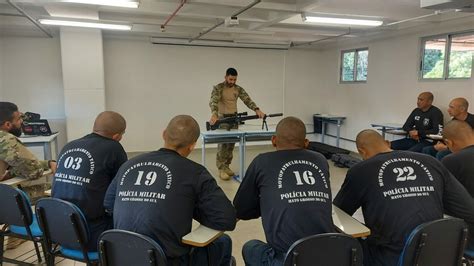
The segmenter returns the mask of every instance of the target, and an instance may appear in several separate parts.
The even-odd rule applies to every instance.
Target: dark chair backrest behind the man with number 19
[[[163,249],[153,239],[134,232],[112,229],[99,237],[102,266],[167,265]]]

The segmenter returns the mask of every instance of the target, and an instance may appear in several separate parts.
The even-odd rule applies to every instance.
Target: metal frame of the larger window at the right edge
[[[451,44],[452,40],[455,37],[460,37],[460,36],[467,36],[467,35],[473,35],[474,36],[474,31],[473,30],[467,30],[467,31],[460,31],[460,32],[452,32],[452,33],[445,33],[445,34],[437,34],[437,35],[431,35],[431,36],[426,36],[421,38],[421,54],[420,54],[420,67],[418,69],[418,78],[421,81],[440,81],[440,80],[468,80],[471,79],[474,75],[474,59],[471,65],[471,76],[470,77],[449,77],[449,63],[451,59]],[[427,41],[431,41],[434,39],[440,39],[444,38],[446,39],[446,46],[444,47],[444,65],[443,65],[443,76],[441,78],[424,78],[423,77],[423,67],[424,67],[424,59],[425,59],[425,46]]]

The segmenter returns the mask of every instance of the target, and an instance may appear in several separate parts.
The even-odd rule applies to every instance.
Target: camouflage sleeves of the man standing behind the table
[[[222,92],[226,88],[224,82],[217,84],[214,86],[214,89],[211,93],[211,100],[209,101],[209,107],[211,107],[211,113],[213,115],[221,115],[221,114],[229,114],[229,112],[225,112],[224,110],[219,110],[219,106],[222,106]],[[233,110],[237,111],[237,98],[240,98],[242,102],[251,110],[257,109],[257,105],[250,99],[250,96],[244,90],[244,88],[240,87],[239,85],[234,85],[234,98],[232,99],[232,108]]]

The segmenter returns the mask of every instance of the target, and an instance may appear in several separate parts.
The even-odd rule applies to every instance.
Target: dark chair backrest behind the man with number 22
[[[461,219],[421,224],[408,236],[398,265],[461,265],[467,237],[467,225]]]

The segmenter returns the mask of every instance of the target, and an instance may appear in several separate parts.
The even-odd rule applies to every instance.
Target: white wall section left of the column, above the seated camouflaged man
[[[1,99],[48,119],[52,129],[61,133],[61,148],[66,142],[66,128],[59,39],[3,38],[0,70]]]

